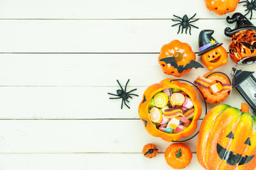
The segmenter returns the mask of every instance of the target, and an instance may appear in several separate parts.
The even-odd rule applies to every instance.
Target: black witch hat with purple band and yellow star
[[[199,43],[199,54],[203,55],[203,53],[213,50],[215,47],[222,45],[223,43],[219,43],[216,41],[212,35],[214,30],[201,30],[199,34],[198,43]]]

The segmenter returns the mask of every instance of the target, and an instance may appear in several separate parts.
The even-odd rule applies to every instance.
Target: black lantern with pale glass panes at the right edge
[[[252,75],[254,72],[242,71],[232,68],[231,75],[234,77],[232,86],[245,98],[245,101],[256,114],[256,79]]]

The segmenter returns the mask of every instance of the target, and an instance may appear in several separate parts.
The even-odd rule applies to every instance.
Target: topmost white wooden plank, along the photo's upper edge
[[[191,10],[193,6],[193,10]],[[236,11],[244,12],[238,5]],[[15,11],[15,12],[14,12]],[[201,0],[136,1],[136,0],[73,0],[73,1],[1,1],[1,18],[173,18],[173,14],[189,16],[197,13],[199,18],[225,18],[208,11]]]

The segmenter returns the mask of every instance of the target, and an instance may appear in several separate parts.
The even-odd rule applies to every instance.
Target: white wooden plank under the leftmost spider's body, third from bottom
[[[130,109],[121,110],[121,100],[110,100],[107,92],[117,87],[0,87],[0,119],[139,119],[138,106],[146,87],[138,87]],[[134,87],[129,87],[134,89]],[[235,98],[235,100],[234,100]],[[201,118],[205,115],[205,104]],[[244,99],[233,89],[223,102],[240,108]],[[216,105],[208,104],[208,111]],[[250,111],[252,113],[252,111]]]

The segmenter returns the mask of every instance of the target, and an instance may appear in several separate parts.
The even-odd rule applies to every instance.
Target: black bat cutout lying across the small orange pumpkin
[[[196,62],[195,60],[191,60],[186,66],[177,64],[174,57],[166,57],[160,60],[161,62],[165,62],[166,64],[171,64],[174,68],[178,70],[178,73],[182,73],[184,70],[192,69],[192,68],[203,68],[202,64]]]

